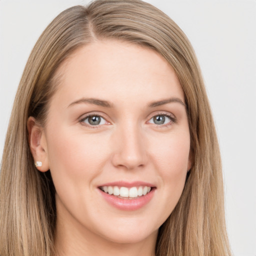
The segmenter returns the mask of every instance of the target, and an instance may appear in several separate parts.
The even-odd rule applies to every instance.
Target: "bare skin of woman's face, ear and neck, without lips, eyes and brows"
[[[190,169],[184,94],[173,68],[151,49],[105,40],[76,50],[58,72],[46,124],[29,117],[27,126],[34,160],[42,161],[37,168],[50,169],[56,188],[59,254],[154,255],[158,228]],[[82,98],[107,100],[111,107]],[[104,119],[90,125],[88,113]],[[164,124],[154,122],[157,115]],[[98,189],[118,180],[156,189],[143,207],[121,210]]]

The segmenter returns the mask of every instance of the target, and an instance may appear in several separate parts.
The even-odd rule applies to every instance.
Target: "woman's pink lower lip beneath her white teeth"
[[[153,197],[155,188],[152,188],[150,192],[148,192],[146,195],[141,195],[138,198],[134,198],[134,199],[122,199],[115,195],[105,193],[99,188],[98,190],[103,196],[103,198],[114,207],[121,210],[137,210],[142,208],[151,200],[151,198]]]

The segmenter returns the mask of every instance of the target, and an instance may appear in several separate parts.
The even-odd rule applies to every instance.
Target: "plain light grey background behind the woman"
[[[60,11],[87,2],[0,0],[0,155],[15,91],[36,39]],[[194,46],[219,137],[231,248],[234,256],[255,256],[256,1],[148,2],[167,13]]]

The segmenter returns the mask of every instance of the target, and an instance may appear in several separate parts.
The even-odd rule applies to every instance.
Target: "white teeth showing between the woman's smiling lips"
[[[100,186],[99,189],[107,194],[122,199],[136,199],[149,193],[154,187],[150,186]]]

